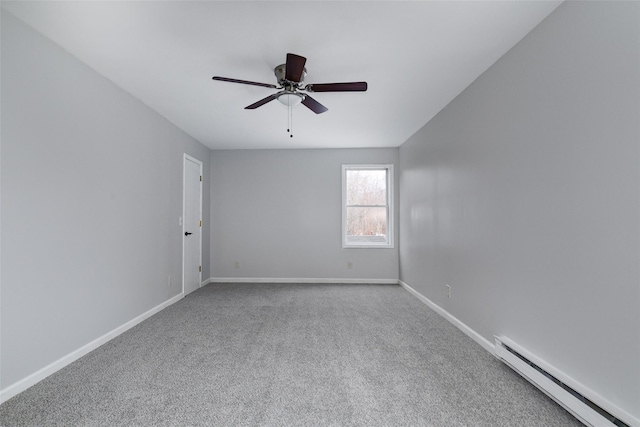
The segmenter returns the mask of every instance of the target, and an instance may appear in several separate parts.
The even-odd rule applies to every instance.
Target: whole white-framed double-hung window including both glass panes
[[[393,165],[342,165],[342,247],[393,247]]]

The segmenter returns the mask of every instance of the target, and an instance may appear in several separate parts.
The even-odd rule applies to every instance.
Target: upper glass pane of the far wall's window
[[[347,205],[386,205],[387,170],[347,170]]]

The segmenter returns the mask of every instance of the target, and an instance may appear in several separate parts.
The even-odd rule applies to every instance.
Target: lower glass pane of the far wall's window
[[[347,241],[386,242],[386,207],[347,208]]]

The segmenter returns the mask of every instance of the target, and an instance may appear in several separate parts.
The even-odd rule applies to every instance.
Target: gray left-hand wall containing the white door
[[[181,292],[182,154],[209,150],[5,11],[1,89],[4,389]]]

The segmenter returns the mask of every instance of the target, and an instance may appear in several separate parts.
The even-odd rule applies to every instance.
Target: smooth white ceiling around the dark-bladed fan
[[[2,7],[212,149],[397,147],[560,1],[44,1]],[[316,93],[316,115],[277,101],[288,52],[306,83],[367,81]],[[55,70],[43,70],[43,75]]]

